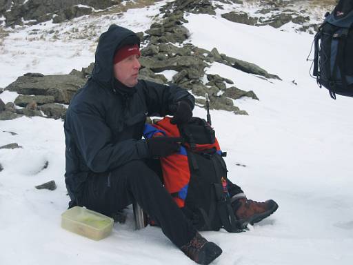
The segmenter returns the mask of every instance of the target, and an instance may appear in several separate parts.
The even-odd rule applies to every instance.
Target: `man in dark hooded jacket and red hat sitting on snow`
[[[180,139],[141,139],[147,115],[174,115],[175,124],[188,122],[194,97],[177,86],[138,80],[139,45],[134,32],[110,26],[99,38],[92,77],[70,102],[64,124],[70,207],[111,215],[135,200],[185,255],[209,264],[221,248],[196,231],[148,166],[152,157],[177,152]],[[272,200],[246,199],[234,184],[229,190],[234,213],[244,226],[277,208]]]

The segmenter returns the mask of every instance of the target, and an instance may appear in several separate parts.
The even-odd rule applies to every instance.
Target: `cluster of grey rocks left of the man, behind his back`
[[[15,119],[26,115],[27,117],[40,116],[54,119],[65,118],[66,107],[70,99],[87,80],[87,71],[73,70],[70,75],[47,75],[40,73],[27,73],[17,78],[5,90],[15,91],[20,95],[13,103],[5,105],[0,111],[0,120]],[[16,106],[22,107],[17,108]]]

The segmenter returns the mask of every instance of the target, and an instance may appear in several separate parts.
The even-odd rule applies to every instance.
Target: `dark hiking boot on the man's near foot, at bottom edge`
[[[222,250],[213,242],[208,242],[199,232],[188,244],[181,246],[181,251],[198,264],[210,264],[221,255]]]

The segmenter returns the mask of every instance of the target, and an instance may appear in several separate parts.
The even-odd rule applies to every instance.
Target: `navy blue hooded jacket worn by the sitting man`
[[[181,99],[194,107],[194,97],[177,86],[143,80],[134,88],[115,85],[114,53],[134,43],[139,44],[134,32],[110,26],[99,38],[92,77],[70,101],[64,123],[65,183],[72,200],[79,197],[90,172],[104,173],[150,157],[141,139],[146,116],[173,115]]]

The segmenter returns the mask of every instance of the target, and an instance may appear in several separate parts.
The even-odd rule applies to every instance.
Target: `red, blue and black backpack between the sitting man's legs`
[[[165,188],[197,230],[241,232],[227,190],[225,153],[219,149],[214,130],[201,118],[176,126],[165,117],[145,126],[145,137],[163,134],[182,137],[179,154],[161,158]]]

